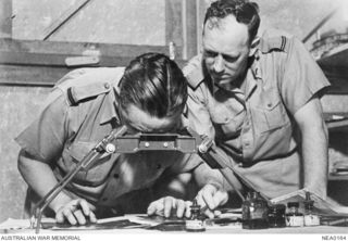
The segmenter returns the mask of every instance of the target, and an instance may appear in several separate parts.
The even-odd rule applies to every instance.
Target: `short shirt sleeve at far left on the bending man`
[[[63,150],[67,126],[67,102],[61,90],[54,89],[46,100],[38,117],[15,141],[40,162],[55,162]]]

